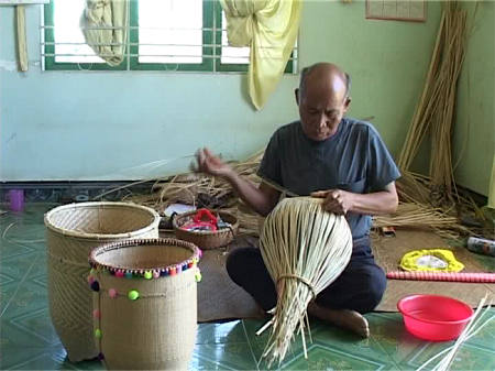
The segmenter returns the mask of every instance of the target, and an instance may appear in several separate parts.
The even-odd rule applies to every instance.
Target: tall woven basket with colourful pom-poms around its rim
[[[95,341],[109,370],[187,370],[196,343],[200,250],[175,239],[97,248],[88,276]]]

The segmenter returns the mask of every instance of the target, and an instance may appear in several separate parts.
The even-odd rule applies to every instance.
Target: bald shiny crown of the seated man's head
[[[346,99],[351,89],[351,77],[334,64],[314,64],[300,73],[300,98],[305,96],[308,87],[321,85],[326,85],[333,94],[342,95]]]

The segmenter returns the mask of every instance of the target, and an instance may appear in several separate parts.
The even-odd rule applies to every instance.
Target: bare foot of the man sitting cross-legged
[[[358,312],[349,309],[333,310],[310,303],[308,314],[339,327],[346,328],[363,338],[370,337],[367,320]]]

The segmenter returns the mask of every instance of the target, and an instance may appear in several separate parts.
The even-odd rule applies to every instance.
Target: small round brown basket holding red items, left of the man
[[[183,240],[193,242],[202,250],[212,250],[229,244],[239,231],[239,219],[228,211],[210,210],[216,217],[220,217],[223,221],[230,223],[231,228],[220,229],[212,232],[194,232],[183,229],[182,227],[188,222],[197,211],[182,214],[174,218],[173,226],[175,236]]]

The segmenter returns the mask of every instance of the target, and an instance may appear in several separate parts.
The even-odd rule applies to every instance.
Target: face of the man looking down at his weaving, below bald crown
[[[351,102],[345,96],[345,90],[340,90],[336,92],[324,87],[307,86],[302,95],[298,91],[302,131],[314,141],[324,141],[339,129],[339,123]]]

